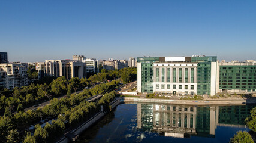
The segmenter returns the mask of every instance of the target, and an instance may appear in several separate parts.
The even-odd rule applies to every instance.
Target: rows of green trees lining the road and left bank
[[[125,76],[122,75],[125,73]],[[54,142],[65,129],[72,126],[77,126],[85,120],[94,116],[100,110],[100,105],[103,105],[105,110],[109,110],[109,103],[116,96],[117,89],[120,85],[120,80],[112,80],[116,77],[121,77],[121,80],[126,83],[135,80],[135,68],[125,68],[121,70],[103,70],[102,73],[96,76],[91,76],[89,79],[73,78],[71,80],[65,77],[58,77],[49,85],[41,84],[25,86],[22,88],[14,88],[12,91],[1,89],[1,109],[5,108],[4,116],[0,117],[0,141],[1,142]],[[37,110],[28,110],[24,112],[23,107],[32,105],[35,102],[50,98],[53,95],[63,95],[67,92],[76,92],[78,89],[83,89],[86,86],[91,86],[97,82],[112,80],[112,82],[100,83],[94,88],[85,89],[83,92],[75,95],[71,94],[65,98],[53,98],[49,105]],[[111,91],[111,92],[110,92]],[[86,99],[97,94],[104,94],[98,102],[87,102]],[[46,97],[47,95],[47,97]],[[11,114],[11,108],[16,108],[17,113]],[[36,125],[33,134],[28,130],[29,125],[37,123],[41,119],[56,119],[52,124],[46,123],[44,128]],[[28,132],[26,132],[28,130]]]

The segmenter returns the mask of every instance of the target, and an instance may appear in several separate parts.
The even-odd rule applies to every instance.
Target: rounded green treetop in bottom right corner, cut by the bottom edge
[[[239,132],[236,132],[236,135],[234,135],[233,138],[230,139],[230,143],[240,143],[240,142],[248,142],[248,143],[253,143],[254,140],[252,139],[252,136],[248,133],[248,132],[245,132],[245,131],[239,131]]]

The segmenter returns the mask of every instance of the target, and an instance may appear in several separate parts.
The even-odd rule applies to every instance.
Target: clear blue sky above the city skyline
[[[256,60],[256,1],[0,1],[9,61],[217,55]]]

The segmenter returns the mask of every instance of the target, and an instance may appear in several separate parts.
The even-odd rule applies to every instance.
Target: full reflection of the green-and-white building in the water
[[[189,138],[215,137],[218,126],[243,126],[252,105],[192,107],[179,105],[137,104],[137,127],[155,130],[165,136]]]

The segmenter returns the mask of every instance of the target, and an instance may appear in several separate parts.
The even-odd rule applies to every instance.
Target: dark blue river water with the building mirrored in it
[[[76,142],[228,142],[254,107],[121,104]]]

